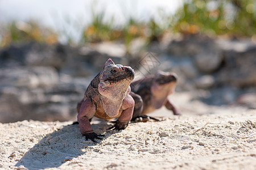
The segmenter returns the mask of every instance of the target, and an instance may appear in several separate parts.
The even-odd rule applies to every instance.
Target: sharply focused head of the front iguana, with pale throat
[[[130,66],[115,65],[112,59],[108,59],[100,73],[98,91],[109,99],[123,100],[133,79],[134,70]]]

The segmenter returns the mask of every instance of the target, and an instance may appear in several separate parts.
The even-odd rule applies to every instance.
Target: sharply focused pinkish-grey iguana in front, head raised
[[[101,139],[102,135],[94,133],[90,125],[93,116],[110,119],[114,130],[127,127],[133,116],[134,100],[130,96],[130,83],[134,79],[134,71],[129,66],[115,65],[111,59],[104,69],[90,82],[85,91],[84,99],[77,104],[77,121],[80,131],[86,140]]]

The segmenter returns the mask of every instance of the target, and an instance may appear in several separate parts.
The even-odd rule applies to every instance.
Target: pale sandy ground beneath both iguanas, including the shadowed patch
[[[2,169],[256,169],[256,110],[212,107],[174,95],[182,116],[160,109],[160,122],[131,123],[85,141],[70,122],[0,124]]]

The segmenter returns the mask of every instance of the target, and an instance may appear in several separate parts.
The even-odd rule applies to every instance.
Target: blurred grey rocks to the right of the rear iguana
[[[208,104],[236,103],[256,91],[256,44],[251,40],[210,39],[192,35],[171,41],[158,51],[158,69],[179,75],[178,91],[207,91]],[[252,90],[253,89],[253,90]]]

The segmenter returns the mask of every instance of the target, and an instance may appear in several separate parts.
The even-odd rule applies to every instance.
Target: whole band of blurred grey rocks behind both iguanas
[[[151,48],[129,55],[122,44],[109,42],[76,47],[30,43],[0,49],[0,122],[76,120],[77,101],[108,58],[130,65],[141,76],[173,71],[179,76],[177,91],[192,91],[205,103],[255,107],[245,104],[256,91],[253,42],[194,35]]]

